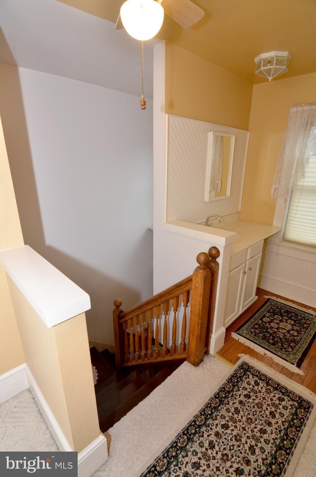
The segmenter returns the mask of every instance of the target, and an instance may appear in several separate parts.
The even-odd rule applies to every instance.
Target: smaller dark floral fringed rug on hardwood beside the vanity
[[[232,337],[258,353],[271,357],[292,372],[299,369],[316,336],[312,310],[269,297]]]

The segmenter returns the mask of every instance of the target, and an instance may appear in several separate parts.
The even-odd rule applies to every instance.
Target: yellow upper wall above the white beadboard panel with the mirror
[[[248,129],[252,85],[166,43],[165,112]]]

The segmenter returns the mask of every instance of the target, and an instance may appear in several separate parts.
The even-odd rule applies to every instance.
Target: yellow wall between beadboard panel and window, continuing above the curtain
[[[273,223],[276,199],[271,198],[271,187],[289,109],[294,104],[315,102],[316,73],[253,87],[241,219]]]

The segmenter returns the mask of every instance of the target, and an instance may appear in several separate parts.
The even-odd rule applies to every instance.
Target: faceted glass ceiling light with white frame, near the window
[[[276,76],[288,71],[287,63],[290,59],[291,55],[288,51],[262,53],[255,58],[256,73],[271,81]]]

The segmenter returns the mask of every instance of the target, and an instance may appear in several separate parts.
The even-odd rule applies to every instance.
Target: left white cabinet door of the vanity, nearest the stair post
[[[245,264],[241,263],[234,270],[229,272],[228,275],[228,286],[227,286],[227,295],[226,295],[226,306],[225,306],[225,316],[224,316],[224,326],[227,327],[232,323],[235,318],[240,314],[240,294],[242,290],[243,283],[243,271]]]

